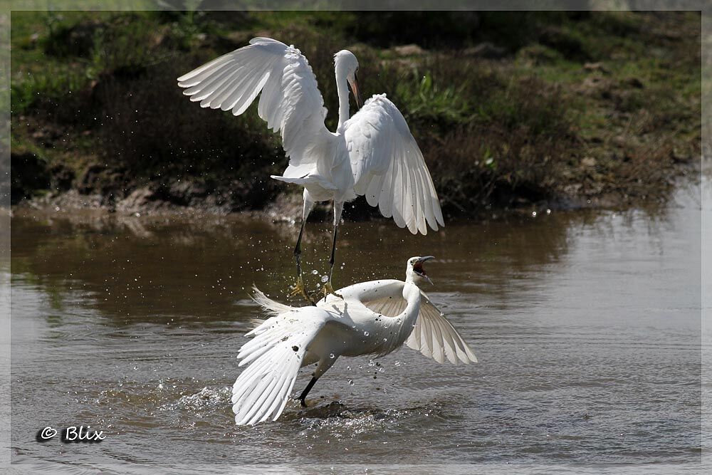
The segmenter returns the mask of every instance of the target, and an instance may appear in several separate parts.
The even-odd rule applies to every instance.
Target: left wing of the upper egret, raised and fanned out
[[[244,113],[261,92],[258,114],[275,132],[290,165],[313,162],[310,150],[333,140],[314,73],[302,53],[271,38],[227,53],[178,78],[184,95],[203,108]]]

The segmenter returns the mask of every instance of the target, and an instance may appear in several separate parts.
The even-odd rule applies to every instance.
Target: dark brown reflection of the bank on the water
[[[454,224],[417,237],[389,221],[345,223],[335,282],[402,278],[409,256],[434,254],[438,291],[466,286],[505,296],[511,279],[557,261],[567,229],[586,219],[565,213]],[[68,293],[78,293],[116,323],[239,318],[236,309],[253,283],[285,298],[294,280],[296,227],[244,216],[18,212],[11,230],[16,281],[40,288],[56,310]],[[303,261],[310,286],[320,282],[314,271],[327,271],[330,239],[327,225],[309,224]]]

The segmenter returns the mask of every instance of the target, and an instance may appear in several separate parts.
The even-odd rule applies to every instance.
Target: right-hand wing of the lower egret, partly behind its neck
[[[421,292],[421,298],[418,319],[406,345],[439,363],[445,362],[445,358],[454,364],[458,361],[465,364],[477,362],[467,343],[424,292]],[[404,298],[387,296],[364,302],[364,305],[376,313],[394,316],[405,309],[407,302]]]

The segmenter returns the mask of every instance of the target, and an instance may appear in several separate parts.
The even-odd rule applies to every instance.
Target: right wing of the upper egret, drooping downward
[[[398,108],[375,95],[345,122],[355,192],[413,234],[444,226],[440,202],[423,154]]]

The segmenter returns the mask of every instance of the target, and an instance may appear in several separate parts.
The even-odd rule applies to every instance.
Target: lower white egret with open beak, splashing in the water
[[[477,359],[444,315],[420,290],[430,281],[423,263],[432,256],[408,259],[406,280],[387,279],[341,288],[342,298],[325,296],[317,306],[293,308],[256,290],[255,300],[273,316],[247,333],[253,340],[240,348],[240,365],[249,366],[232,390],[237,424],[256,424],[282,413],[300,367],[317,363],[298,399],[340,356],[387,355],[406,343],[437,362]]]

